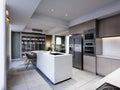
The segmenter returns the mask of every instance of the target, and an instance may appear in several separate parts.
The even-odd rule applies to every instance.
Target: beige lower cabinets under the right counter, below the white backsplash
[[[97,73],[106,76],[120,67],[120,61],[117,59],[97,57]]]

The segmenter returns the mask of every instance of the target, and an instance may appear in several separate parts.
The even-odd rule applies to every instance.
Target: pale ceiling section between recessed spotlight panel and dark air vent
[[[68,22],[57,19],[57,18],[52,18],[46,15],[42,14],[34,14],[30,21],[27,24],[27,28],[37,28],[37,29],[43,29],[43,30],[50,30],[56,27],[64,27],[68,28]]]

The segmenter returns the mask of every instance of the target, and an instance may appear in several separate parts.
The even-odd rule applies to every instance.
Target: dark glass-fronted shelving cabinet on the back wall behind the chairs
[[[22,33],[22,54],[28,51],[45,50],[45,35],[39,33]]]

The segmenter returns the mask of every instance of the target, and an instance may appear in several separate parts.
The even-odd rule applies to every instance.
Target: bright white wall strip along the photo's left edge
[[[5,0],[0,0],[0,90],[6,90]]]

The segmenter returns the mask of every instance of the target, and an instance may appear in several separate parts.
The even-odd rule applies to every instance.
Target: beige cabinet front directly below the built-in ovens
[[[96,73],[96,57],[84,55],[83,69],[89,72]]]

